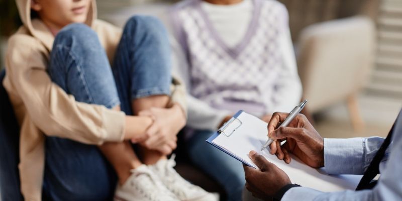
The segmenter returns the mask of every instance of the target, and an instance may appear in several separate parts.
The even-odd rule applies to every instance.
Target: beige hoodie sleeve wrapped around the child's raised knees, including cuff
[[[30,36],[15,35],[9,40],[7,74],[16,90],[12,92],[21,97],[34,124],[46,135],[86,144],[122,141],[125,114],[76,102],[51,81],[46,72],[46,51]]]

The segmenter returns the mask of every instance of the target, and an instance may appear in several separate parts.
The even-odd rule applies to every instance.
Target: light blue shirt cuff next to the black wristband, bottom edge
[[[285,192],[281,201],[287,200],[314,200],[323,192],[308,187],[294,187]]]

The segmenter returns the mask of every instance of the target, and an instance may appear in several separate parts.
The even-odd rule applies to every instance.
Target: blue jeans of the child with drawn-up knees
[[[117,47],[113,68],[96,33],[71,24],[56,36],[50,56],[53,82],[78,102],[120,105],[132,114],[135,98],[166,94],[171,83],[167,33],[152,17],[132,17]],[[97,146],[46,137],[43,197],[48,200],[111,200],[117,176]]]

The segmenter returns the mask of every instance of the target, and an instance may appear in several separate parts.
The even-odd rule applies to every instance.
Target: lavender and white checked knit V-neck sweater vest
[[[170,12],[174,34],[190,64],[190,93],[218,109],[268,112],[281,73],[278,36],[287,26],[286,9],[276,1],[254,0],[246,35],[231,48],[212,26],[201,2],[187,0]]]

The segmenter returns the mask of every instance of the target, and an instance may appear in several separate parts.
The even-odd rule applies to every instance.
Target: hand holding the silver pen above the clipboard
[[[298,114],[287,127],[275,130],[287,115],[287,113],[274,113],[268,123],[268,137],[275,140],[269,145],[270,153],[286,163],[290,163],[289,153],[292,153],[311,167],[323,167],[324,139],[304,115]],[[280,146],[280,141],[283,140],[286,140],[286,143]]]

